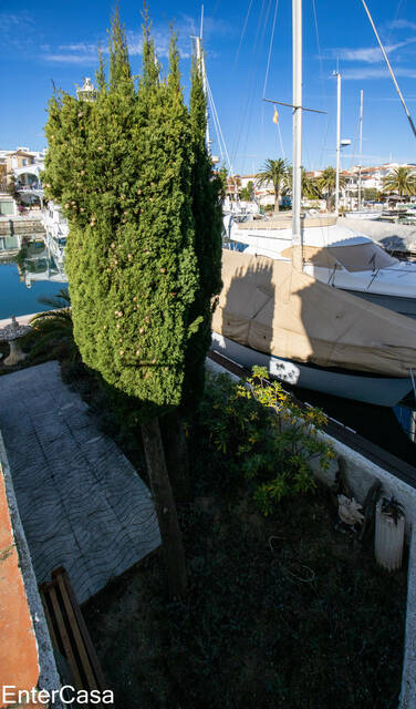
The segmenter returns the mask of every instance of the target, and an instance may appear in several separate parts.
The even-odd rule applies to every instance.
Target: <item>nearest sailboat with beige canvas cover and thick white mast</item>
[[[223,288],[212,319],[212,347],[241,364],[263,364],[291,384],[392,407],[413,388],[414,321],[303,271],[302,0],[292,0],[292,9],[291,253],[285,260],[277,260],[223,250]]]

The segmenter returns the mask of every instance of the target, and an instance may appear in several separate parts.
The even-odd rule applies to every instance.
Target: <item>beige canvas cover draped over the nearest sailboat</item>
[[[212,329],[277,357],[391,377],[416,371],[416,321],[287,261],[222,250]]]

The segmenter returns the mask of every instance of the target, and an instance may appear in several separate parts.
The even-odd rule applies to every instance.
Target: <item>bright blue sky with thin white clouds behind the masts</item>
[[[205,2],[209,84],[233,171],[240,174],[257,172],[266,158],[282,153],[291,160],[291,111],[279,109],[280,140],[273,109],[262,100],[291,102],[291,4],[290,0]],[[367,4],[410,113],[416,113],[416,2],[367,0]],[[106,0],[0,1],[0,148],[45,145],[43,125],[52,80],[72,92],[83,76],[94,75],[96,47],[106,45],[112,6]],[[141,68],[139,9],[141,2],[121,0],[134,73]],[[179,32],[187,94],[190,34],[199,28],[200,3],[150,0],[149,9],[162,61],[170,22]],[[361,0],[304,0],[303,28],[304,105],[327,112],[304,114],[304,166],[320,168],[335,161],[336,82],[331,74],[337,62],[343,79],[342,137],[352,140],[343,166],[357,160],[361,89],[363,164],[391,158],[416,162],[415,137]],[[212,138],[212,152],[219,154],[214,130]]]

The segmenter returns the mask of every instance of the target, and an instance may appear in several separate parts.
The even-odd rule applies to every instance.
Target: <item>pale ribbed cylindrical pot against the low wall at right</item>
[[[398,513],[397,520],[383,511],[383,500],[378,500],[375,510],[374,554],[377,564],[389,572],[402,566],[405,540],[405,516]]]

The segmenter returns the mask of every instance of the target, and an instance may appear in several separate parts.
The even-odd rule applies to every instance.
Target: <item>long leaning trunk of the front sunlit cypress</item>
[[[183,597],[187,590],[186,564],[175,500],[166,469],[158,419],[142,423],[147,472],[159,523],[169,595]]]

